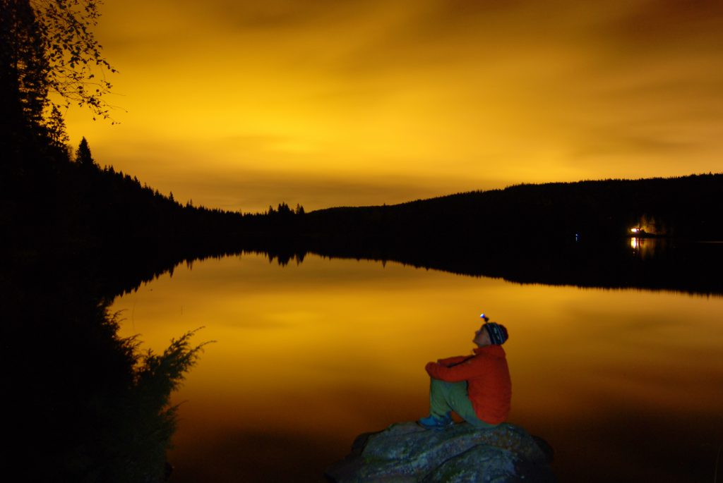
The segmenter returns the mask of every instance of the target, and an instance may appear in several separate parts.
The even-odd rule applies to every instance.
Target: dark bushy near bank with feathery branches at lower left
[[[176,424],[171,392],[200,347],[161,354],[117,334],[76,263],[14,258],[0,271],[3,471],[27,482],[161,482]]]

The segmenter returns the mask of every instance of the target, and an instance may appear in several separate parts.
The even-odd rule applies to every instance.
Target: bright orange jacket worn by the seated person
[[[510,414],[512,382],[505,349],[489,345],[474,349],[471,357],[449,357],[427,364],[427,373],[448,383],[467,381],[467,393],[479,419],[490,425]]]

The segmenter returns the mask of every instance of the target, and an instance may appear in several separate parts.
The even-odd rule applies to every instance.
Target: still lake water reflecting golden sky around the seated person
[[[154,351],[215,341],[174,396],[174,482],[323,481],[359,433],[427,414],[425,363],[471,353],[483,311],[510,331],[510,422],[552,444],[560,481],[713,481],[723,444],[723,297],[244,254],[113,310]]]

